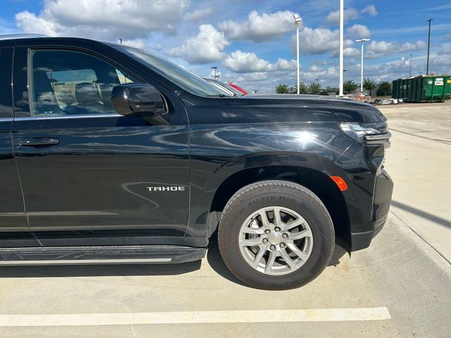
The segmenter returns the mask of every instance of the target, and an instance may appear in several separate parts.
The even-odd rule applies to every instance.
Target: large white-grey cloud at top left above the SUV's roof
[[[117,41],[174,34],[188,6],[188,0],[46,0],[38,15],[23,11],[15,18],[23,32]]]

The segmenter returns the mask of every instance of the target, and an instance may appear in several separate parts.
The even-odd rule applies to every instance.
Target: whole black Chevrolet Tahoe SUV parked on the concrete
[[[388,215],[369,104],[227,96],[147,51],[0,37],[0,265],[180,263],[288,289]]]

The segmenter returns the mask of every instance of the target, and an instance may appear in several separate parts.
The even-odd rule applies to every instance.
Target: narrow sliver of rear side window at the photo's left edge
[[[0,48],[0,118],[13,116],[13,99],[11,94],[11,67],[13,49]]]

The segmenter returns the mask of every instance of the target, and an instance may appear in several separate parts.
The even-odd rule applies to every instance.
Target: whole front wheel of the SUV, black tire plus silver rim
[[[249,184],[230,198],[218,227],[218,246],[228,269],[245,284],[294,289],[326,268],[335,232],[313,192],[293,182],[268,180]]]

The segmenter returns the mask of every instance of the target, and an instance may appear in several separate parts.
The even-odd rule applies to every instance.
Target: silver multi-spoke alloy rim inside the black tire
[[[238,242],[252,268],[266,275],[287,275],[309,259],[314,238],[299,213],[283,206],[268,206],[249,215]]]

